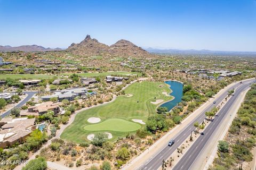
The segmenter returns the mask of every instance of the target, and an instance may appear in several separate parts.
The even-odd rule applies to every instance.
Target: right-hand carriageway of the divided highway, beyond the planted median
[[[229,101],[226,103],[224,107],[222,107],[219,111],[219,113],[214,117],[214,121],[207,126],[207,128],[204,130],[204,135],[200,135],[200,137],[195,141],[195,143],[189,148],[189,150],[186,152],[185,155],[180,159],[178,164],[176,164],[173,168],[173,170],[178,169],[190,169],[190,167],[193,165],[193,163],[196,161],[197,156],[200,154],[201,150],[206,145],[207,141],[209,141],[212,137],[212,134],[216,129],[218,129],[218,126],[221,124],[223,118],[225,118],[228,113],[231,106],[233,106],[235,100],[239,98],[239,94],[243,92],[245,89],[249,88],[250,83],[244,84],[244,86],[238,87],[236,89],[236,92],[234,96],[231,96]]]

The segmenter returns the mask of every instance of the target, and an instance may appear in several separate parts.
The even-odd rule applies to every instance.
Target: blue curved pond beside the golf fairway
[[[174,99],[162,104],[161,107],[167,107],[168,111],[171,111],[171,109],[181,101],[183,96],[183,84],[178,81],[165,81],[165,83],[170,85],[170,89],[172,90],[170,95],[173,96]]]

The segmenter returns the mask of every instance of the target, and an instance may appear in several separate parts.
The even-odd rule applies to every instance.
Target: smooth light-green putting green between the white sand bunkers
[[[86,131],[118,131],[131,132],[141,128],[138,123],[123,120],[121,118],[110,118],[102,123],[91,124],[84,127]]]

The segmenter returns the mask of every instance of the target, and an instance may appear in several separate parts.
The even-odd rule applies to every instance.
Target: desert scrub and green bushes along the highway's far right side
[[[219,141],[218,158],[214,160],[212,170],[233,169],[237,164],[250,162],[253,159],[251,149],[256,142],[256,85],[247,92],[244,103],[239,108],[229,133],[236,138],[235,142]],[[241,133],[243,129],[243,133]],[[244,131],[247,134],[244,134]]]

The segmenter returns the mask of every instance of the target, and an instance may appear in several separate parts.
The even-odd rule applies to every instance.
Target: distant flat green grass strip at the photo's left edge
[[[6,78],[11,78],[14,80],[20,79],[51,79],[54,75],[46,74],[0,74],[0,80],[5,80]]]

